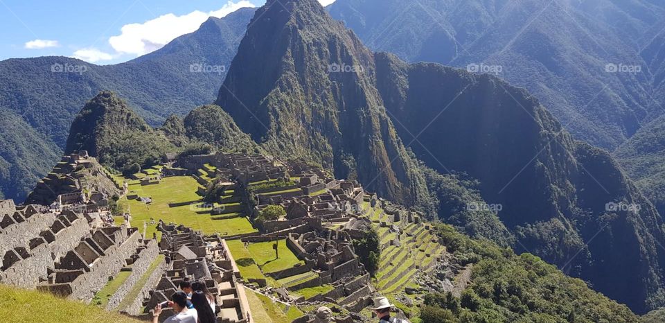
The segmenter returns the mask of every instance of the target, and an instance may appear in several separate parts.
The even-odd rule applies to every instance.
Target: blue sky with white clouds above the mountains
[[[319,0],[323,4],[334,0]],[[265,0],[0,0],[0,60],[62,55],[115,64]]]

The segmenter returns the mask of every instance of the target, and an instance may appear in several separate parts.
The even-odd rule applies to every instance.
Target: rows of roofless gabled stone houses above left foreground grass
[[[136,228],[109,226],[98,213],[53,211],[3,201],[0,282],[89,302],[144,252],[157,250]]]

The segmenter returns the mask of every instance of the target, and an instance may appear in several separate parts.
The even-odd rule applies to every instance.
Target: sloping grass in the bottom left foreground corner
[[[48,293],[0,285],[0,315],[12,323],[140,323],[130,317],[111,313]]]

